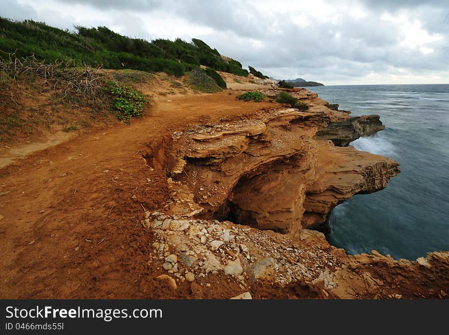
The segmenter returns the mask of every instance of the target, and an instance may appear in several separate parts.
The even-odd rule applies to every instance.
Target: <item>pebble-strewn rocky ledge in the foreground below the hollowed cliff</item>
[[[350,256],[309,229],[285,235],[229,221],[143,215],[142,226],[155,237],[148,264],[162,266],[164,273],[156,279],[173,292],[177,282],[194,290],[198,283],[206,281],[208,287],[224,277],[246,291],[235,299],[250,298],[248,292],[256,293],[261,282],[291,294],[300,284],[321,299],[444,299],[449,293],[449,252],[432,252],[415,261],[395,260],[375,250]],[[192,261],[183,262],[185,255]]]

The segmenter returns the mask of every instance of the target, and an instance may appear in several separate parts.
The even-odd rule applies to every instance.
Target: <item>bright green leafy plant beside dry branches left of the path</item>
[[[115,96],[112,106],[116,109],[116,115],[120,121],[129,124],[131,117],[143,116],[145,98],[142,93],[122,86],[116,81],[107,81],[104,89]]]

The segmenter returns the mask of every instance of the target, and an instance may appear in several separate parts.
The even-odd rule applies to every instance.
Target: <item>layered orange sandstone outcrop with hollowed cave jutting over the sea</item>
[[[393,160],[325,140],[326,132],[344,144],[379,130],[377,115],[351,118],[316,94],[296,94],[308,99],[307,112],[275,108],[173,133],[173,180],[191,192],[186,199],[204,207],[203,218],[294,232],[321,224],[354,194],[386,187],[399,172]]]

